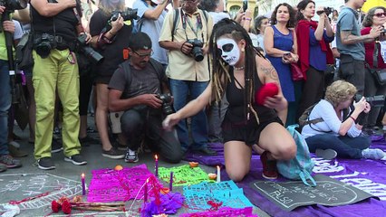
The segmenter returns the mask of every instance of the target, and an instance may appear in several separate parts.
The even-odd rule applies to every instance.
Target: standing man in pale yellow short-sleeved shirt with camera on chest
[[[177,12],[172,10],[166,15],[159,36],[159,45],[169,50],[166,73],[176,111],[187,104],[188,98],[196,99],[207,88],[210,80],[207,43],[213,29],[212,17],[198,9],[199,0],[182,0],[180,3]],[[207,115],[204,109],[191,118],[190,126],[191,146],[186,119],[176,127],[182,150],[216,155],[215,151],[207,149]]]

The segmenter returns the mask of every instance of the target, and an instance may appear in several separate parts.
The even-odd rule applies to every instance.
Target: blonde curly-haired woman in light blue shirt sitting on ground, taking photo
[[[326,159],[337,155],[378,160],[384,156],[381,149],[369,149],[370,138],[361,136],[362,119],[371,108],[364,98],[352,104],[356,91],[351,83],[343,80],[327,87],[324,99],[314,106],[309,124],[302,130],[310,152]]]

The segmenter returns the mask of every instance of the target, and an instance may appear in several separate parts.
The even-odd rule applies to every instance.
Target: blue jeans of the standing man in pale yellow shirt
[[[189,80],[173,80],[170,79],[170,90],[174,97],[174,109],[178,111],[182,109],[190,99],[196,99],[207,88],[208,81],[189,81]],[[187,151],[189,148],[189,133],[187,120],[182,119],[176,126],[177,135],[182,151]],[[199,150],[207,148],[207,114],[205,109],[191,117],[190,131],[193,144],[191,150]]]

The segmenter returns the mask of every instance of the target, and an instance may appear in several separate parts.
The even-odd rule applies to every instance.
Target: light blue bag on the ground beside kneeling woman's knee
[[[297,146],[296,156],[288,161],[277,161],[277,171],[285,178],[302,180],[305,185],[314,187],[316,182],[311,174],[315,163],[311,160],[310,150],[304,137],[295,130],[295,127],[298,125],[288,126],[287,130],[294,137]]]

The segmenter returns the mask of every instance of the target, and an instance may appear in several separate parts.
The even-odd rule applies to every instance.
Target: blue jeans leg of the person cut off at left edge
[[[8,109],[11,107],[11,86],[8,61],[0,60],[0,156],[8,155]]]

